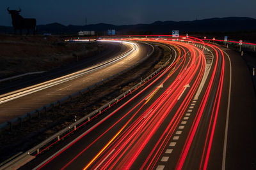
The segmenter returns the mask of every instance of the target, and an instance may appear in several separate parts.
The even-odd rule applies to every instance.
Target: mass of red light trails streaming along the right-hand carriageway
[[[124,41],[129,39],[123,38]],[[185,143],[182,143],[180,157],[176,162],[175,168],[182,169],[184,164],[188,163],[188,153],[191,152],[191,148],[195,145],[195,140],[200,138],[200,136],[196,136],[196,132],[202,130],[199,128],[200,123],[204,121],[205,115],[209,115],[209,120],[205,120],[207,129],[204,132],[204,146],[200,146],[202,153],[200,152],[200,165],[198,167],[198,169],[207,169],[209,158],[211,157],[212,143],[214,142],[214,132],[216,131],[216,124],[220,115],[221,95],[223,94],[225,75],[225,57],[223,52],[218,46],[204,43],[204,41],[198,38],[182,39],[182,42],[176,39],[173,41],[172,38],[133,38],[132,40],[152,41],[175,46],[175,48],[179,49],[177,50],[179,56],[175,57],[175,61],[170,66],[157,74],[152,80],[149,80],[150,83],[147,87],[129,99],[129,103],[132,103],[134,99],[138,101],[132,108],[125,111],[124,116],[119,118],[118,121],[113,122],[106,131],[93,139],[90,145],[81,148],[81,151],[68,160],[61,169],[66,169],[75,164],[76,160],[79,157],[83,157],[83,154],[95,143],[104,141],[103,139],[109,132],[115,133],[111,134],[111,138],[109,137],[107,141],[104,141],[100,148],[97,148],[97,151],[93,153],[94,155],[92,155],[90,160],[84,160],[83,169],[131,169],[134,162],[141,157],[143,150],[149,144],[152,145],[152,141],[154,141],[154,146],[150,148],[148,155],[143,158],[140,169],[155,169],[182,117],[184,117],[189,104],[195,97],[196,99],[202,97],[202,101],[198,100],[199,108],[196,108],[195,118],[191,120],[192,124],[189,127]],[[209,48],[214,55],[211,63],[212,67],[208,68],[209,74],[205,74],[207,65],[204,54],[205,48]],[[160,88],[159,84],[163,88]],[[184,90],[184,86],[188,84],[190,87]],[[138,98],[149,87],[154,88],[147,92],[145,97]],[[202,95],[200,94],[201,91]],[[179,98],[180,100],[178,100]],[[111,115],[122,111],[123,106],[111,113]],[[120,124],[124,120],[126,120],[124,125]],[[163,125],[164,130],[159,131]],[[86,134],[81,136],[81,138],[84,138]],[[159,138],[152,140],[156,134]],[[43,168],[56,159],[56,157],[64,154],[79,139],[76,139],[58,155],[52,157],[52,159],[47,160],[40,168]]]

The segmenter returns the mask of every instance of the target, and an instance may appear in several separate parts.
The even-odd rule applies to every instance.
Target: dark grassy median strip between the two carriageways
[[[21,127],[17,125],[12,131],[3,131],[0,139],[0,152],[7,153],[8,150],[12,154],[1,154],[0,160],[8,159],[15,153],[24,152],[72,124],[74,115],[79,119],[108,103],[108,101],[115,99],[115,97],[140,82],[140,78],[145,78],[153,73],[169,58],[170,51],[168,48],[159,45],[152,56],[131,71],[127,71],[100,87],[72,99],[72,101],[63,104],[61,108],[52,108],[40,118],[32,118],[30,122],[22,123]],[[17,143],[17,141],[19,142]]]

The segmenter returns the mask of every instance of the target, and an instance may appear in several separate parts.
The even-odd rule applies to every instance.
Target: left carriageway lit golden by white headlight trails
[[[49,80],[1,94],[0,123],[58,101],[116,73],[120,73],[122,70],[140,62],[143,57],[147,57],[147,54],[152,51],[152,46],[145,43],[139,43],[138,45],[129,42],[121,44],[121,41],[102,41],[101,43],[121,45],[121,48],[115,53],[100,56],[96,60],[97,62],[92,60],[92,62],[85,63],[83,69],[61,76],[51,75]],[[138,46],[140,46],[140,50]]]

